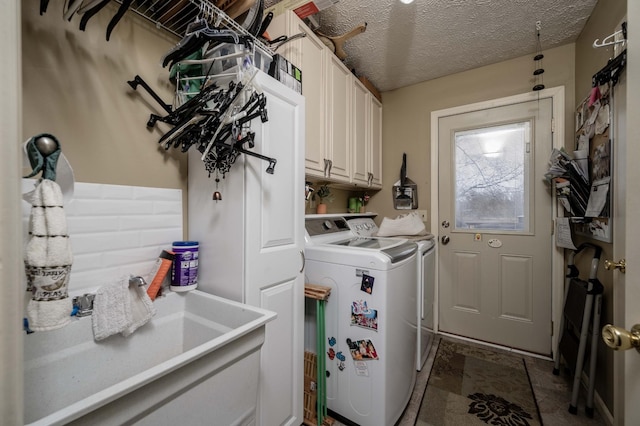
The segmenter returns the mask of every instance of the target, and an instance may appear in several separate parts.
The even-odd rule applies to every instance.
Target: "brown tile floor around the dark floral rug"
[[[435,342],[431,349],[431,353],[427,358],[427,362],[422,371],[418,373],[416,385],[409,400],[407,408],[398,420],[396,426],[440,426],[426,425],[417,420],[418,411],[424,391],[429,380],[429,373],[435,352],[440,339],[455,340],[451,337],[436,336]],[[469,342],[467,342],[469,343]],[[480,345],[481,346],[481,345]],[[496,349],[500,350],[500,349]],[[524,357],[527,363],[527,369],[533,385],[533,391],[542,416],[542,423],[546,426],[601,426],[607,423],[602,419],[596,410],[594,418],[590,419],[584,414],[584,395],[580,396],[578,403],[578,414],[573,415],[568,412],[569,402],[571,401],[571,380],[564,375],[554,376],[553,362],[535,357]],[[335,426],[343,426],[340,422],[335,422]]]

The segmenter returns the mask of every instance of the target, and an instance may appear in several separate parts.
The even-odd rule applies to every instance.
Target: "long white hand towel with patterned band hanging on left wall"
[[[67,234],[60,186],[42,179],[31,193],[30,239],[25,248],[25,272],[32,298],[27,304],[33,331],[55,330],[69,323],[72,303],[69,275],[73,254]]]

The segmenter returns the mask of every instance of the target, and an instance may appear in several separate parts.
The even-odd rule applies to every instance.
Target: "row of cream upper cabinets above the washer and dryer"
[[[343,186],[382,187],[382,105],[295,13],[276,16],[272,38],[304,33],[278,53],[302,70],[305,175]]]

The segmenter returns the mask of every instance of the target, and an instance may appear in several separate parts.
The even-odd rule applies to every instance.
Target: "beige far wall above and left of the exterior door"
[[[544,34],[543,34],[544,36]],[[544,37],[542,37],[544,47]],[[544,84],[565,86],[565,113],[573,123],[574,45],[544,51]],[[400,176],[402,153],[407,154],[407,175],[418,184],[420,209],[431,217],[431,112],[444,108],[496,99],[531,91],[534,83],[533,55],[489,65],[402,89],[384,92],[382,124],[383,189],[375,194],[369,209],[395,217],[391,188]],[[571,140],[571,126],[566,139]]]

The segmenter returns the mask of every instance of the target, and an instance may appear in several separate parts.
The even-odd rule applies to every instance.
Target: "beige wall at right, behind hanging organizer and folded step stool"
[[[609,34],[620,29],[620,23],[626,15],[626,2],[624,1],[599,1],[596,5],[589,21],[585,25],[580,37],[576,41],[576,105],[582,101],[591,90],[591,77],[607,64],[609,58],[613,57],[613,48],[593,48],[596,39],[602,40]],[[615,144],[616,141],[614,140]],[[567,145],[569,147],[569,145]],[[618,194],[617,196],[621,196]],[[623,196],[623,195],[622,195]],[[615,224],[613,225],[615,226]],[[577,238],[576,242],[587,241],[585,238]],[[614,259],[613,245],[600,241],[591,241],[603,248],[603,254],[598,268],[598,279],[604,285],[605,291],[602,303],[601,324],[613,323],[613,274],[604,269],[605,259]],[[576,259],[576,265],[580,271],[588,274],[591,253]],[[613,357],[614,353],[608,349],[602,341],[598,345],[597,367],[596,367],[596,391],[607,405],[609,411],[613,413]],[[614,413],[615,414],[615,413]]]

